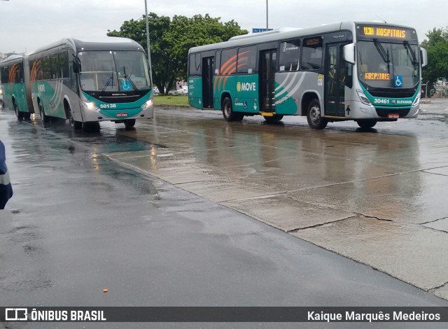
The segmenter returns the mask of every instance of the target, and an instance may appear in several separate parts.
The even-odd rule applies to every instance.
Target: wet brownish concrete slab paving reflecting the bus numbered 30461
[[[444,140],[181,112],[123,132],[164,148],[106,155],[448,299]]]

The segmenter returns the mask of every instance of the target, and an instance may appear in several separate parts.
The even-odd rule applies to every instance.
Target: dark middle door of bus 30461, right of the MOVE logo
[[[260,51],[260,65],[258,68],[260,79],[260,112],[275,112],[275,66],[276,49]]]

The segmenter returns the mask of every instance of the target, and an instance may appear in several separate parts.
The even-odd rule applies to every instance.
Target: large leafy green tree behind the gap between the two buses
[[[247,34],[234,20],[222,23],[221,18],[195,15],[193,18],[174,16],[172,20],[155,13],[148,15],[153,83],[160,92],[171,90],[176,80],[187,80],[188,49],[228,41],[232,36]],[[145,16],[125,21],[120,31],[108,31],[108,36],[132,38],[146,47]]]

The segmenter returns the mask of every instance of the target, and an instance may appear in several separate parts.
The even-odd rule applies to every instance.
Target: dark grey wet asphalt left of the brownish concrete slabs
[[[160,112],[162,118],[164,111]],[[208,114],[195,112],[193,116],[207,119]],[[210,116],[215,119],[215,114]],[[151,129],[155,128],[151,123]],[[100,133],[74,134],[66,125],[42,127],[40,120],[18,123],[13,113],[0,111],[0,138],[6,144],[15,189],[13,200],[0,214],[0,305],[448,305],[369,266],[173,186],[169,180],[111,161],[111,155],[155,152],[166,158],[173,151],[163,143],[170,133],[162,127],[160,143],[132,137],[145,129],[137,125],[136,131],[125,132],[119,125],[106,123]],[[103,293],[103,288],[109,293]],[[273,325],[215,323],[179,328],[236,326]],[[124,328],[120,323],[85,325],[97,327]],[[165,327],[172,325],[125,325]],[[290,328],[291,324],[275,327]],[[300,325],[305,327],[372,325]],[[444,325],[393,323],[382,327]],[[7,323],[7,328],[83,325]]]

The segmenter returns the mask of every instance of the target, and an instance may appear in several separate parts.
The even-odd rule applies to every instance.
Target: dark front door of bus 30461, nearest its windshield
[[[346,43],[330,43],[325,51],[325,116],[345,116]]]

